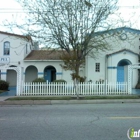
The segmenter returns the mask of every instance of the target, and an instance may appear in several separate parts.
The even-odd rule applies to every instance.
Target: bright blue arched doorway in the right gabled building
[[[131,62],[127,59],[122,59],[117,65],[117,82],[125,81],[125,66],[130,65]]]

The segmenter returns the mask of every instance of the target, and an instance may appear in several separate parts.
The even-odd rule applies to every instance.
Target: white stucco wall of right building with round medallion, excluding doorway
[[[138,63],[138,56],[130,52],[120,52],[110,55],[106,58],[107,54],[120,51],[122,49],[129,49],[135,53],[139,53],[140,35],[134,33],[128,33],[126,40],[120,39],[120,34],[104,34],[104,38],[108,43],[107,51],[100,51],[95,59],[86,57],[86,77],[87,81],[92,80],[94,82],[99,79],[108,80],[109,82],[117,81],[117,64],[122,59],[128,59],[132,64]],[[107,60],[106,60],[107,59]],[[95,63],[100,63],[100,72],[95,72]],[[114,67],[114,69],[108,69],[107,67]],[[137,83],[137,70],[133,70],[133,87]]]

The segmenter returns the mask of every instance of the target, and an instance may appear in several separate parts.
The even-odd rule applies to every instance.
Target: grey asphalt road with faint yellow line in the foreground
[[[129,140],[131,127],[139,103],[0,107],[0,140]]]

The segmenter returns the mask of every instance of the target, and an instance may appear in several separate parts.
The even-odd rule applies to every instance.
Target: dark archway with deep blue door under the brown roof
[[[48,82],[56,80],[56,69],[53,66],[47,66],[44,69],[44,79]]]

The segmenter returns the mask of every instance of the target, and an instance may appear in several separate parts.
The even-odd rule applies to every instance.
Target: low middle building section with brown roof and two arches
[[[70,71],[64,71],[59,59],[61,51],[33,50],[24,59],[25,81],[31,82],[37,77],[44,77],[46,81],[52,82],[56,79],[72,81]]]

